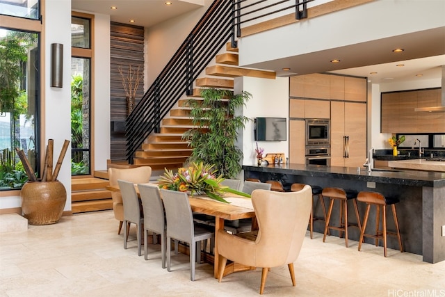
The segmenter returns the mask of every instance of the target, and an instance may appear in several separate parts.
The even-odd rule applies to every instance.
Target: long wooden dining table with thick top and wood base
[[[136,184],[135,187],[136,192],[139,195],[138,186]],[[119,188],[115,186],[106,186],[106,189],[108,191],[120,191]],[[193,212],[215,217],[215,252],[213,255],[213,276],[215,278],[218,278],[219,269],[218,231],[224,230],[225,220],[253,218],[252,230],[257,229],[257,220],[254,219],[255,211],[252,207],[252,200],[250,198],[245,198],[232,193],[226,193],[223,198],[229,203],[213,200],[207,195],[188,195],[188,202],[190,203]],[[226,265],[224,275],[228,275],[236,271],[254,269],[256,269],[256,267],[245,266],[232,262]]]

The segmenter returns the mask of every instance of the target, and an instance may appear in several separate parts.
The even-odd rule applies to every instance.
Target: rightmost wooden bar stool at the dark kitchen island
[[[401,231],[398,227],[397,213],[396,213],[396,203],[399,202],[397,198],[387,198],[381,193],[377,192],[365,192],[362,191],[357,195],[357,200],[360,202],[364,202],[368,204],[366,207],[366,213],[364,215],[362,232],[360,232],[360,241],[359,241],[359,250],[362,248],[362,240],[364,236],[371,237],[375,239],[375,246],[378,246],[378,240],[383,239],[383,254],[387,257],[387,234],[392,236],[397,236],[398,246],[403,252],[402,247],[402,239],[401,239]],[[368,223],[369,218],[369,209],[371,209],[371,205],[375,205],[375,235],[366,234],[365,228],[366,223]],[[394,217],[394,224],[396,225],[396,232],[387,232],[387,211],[386,207],[391,205],[392,214]],[[382,214],[382,230],[380,229],[380,208],[383,209]]]

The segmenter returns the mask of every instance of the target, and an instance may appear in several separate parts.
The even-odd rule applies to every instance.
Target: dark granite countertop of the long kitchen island
[[[337,179],[357,180],[362,182],[378,182],[382,184],[399,184],[406,186],[445,186],[445,173],[416,170],[385,170],[376,169],[368,172],[366,168],[316,166],[302,164],[282,164],[269,166],[243,165],[244,170],[256,172],[275,172],[310,177],[332,177]]]

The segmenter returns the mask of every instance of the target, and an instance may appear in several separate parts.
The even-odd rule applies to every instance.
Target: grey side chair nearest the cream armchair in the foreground
[[[214,239],[213,228],[193,222],[192,209],[187,193],[161,189],[162,201],[167,216],[167,271],[170,272],[172,239],[188,243],[190,248],[190,280],[195,280],[195,260],[200,262],[201,241]]]

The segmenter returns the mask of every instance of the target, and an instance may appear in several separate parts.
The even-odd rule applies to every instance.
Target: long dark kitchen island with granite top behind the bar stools
[[[289,164],[280,166],[243,166],[244,177],[258,178],[261,182],[268,179],[280,180],[289,186],[295,182],[321,186],[339,187],[348,191],[378,191],[385,196],[400,200],[396,205],[398,222],[401,228],[403,248],[423,256],[424,262],[436,263],[445,260],[445,172],[426,172],[416,170],[374,170],[337,166],[314,166]],[[327,200],[326,200],[327,202]],[[320,209],[316,209],[320,211]],[[363,220],[365,205],[359,203],[359,213]],[[372,214],[375,214],[374,212]],[[369,227],[375,225],[371,214]],[[351,215],[351,216],[349,216]],[[323,216],[316,212],[316,216]],[[333,219],[339,218],[338,205],[334,205]],[[371,218],[373,220],[371,220]],[[353,211],[348,212],[348,220],[355,222]],[[314,230],[323,233],[324,221],[316,221]],[[334,220],[335,222],[335,220]],[[394,230],[394,221],[388,214],[388,229]],[[336,232],[332,232],[337,234]],[[445,235],[445,234],[444,234]],[[359,240],[356,228],[350,228],[349,238]],[[328,238],[326,240],[329,240]],[[373,239],[366,239],[373,243]],[[388,247],[398,249],[395,237],[388,237]]]

